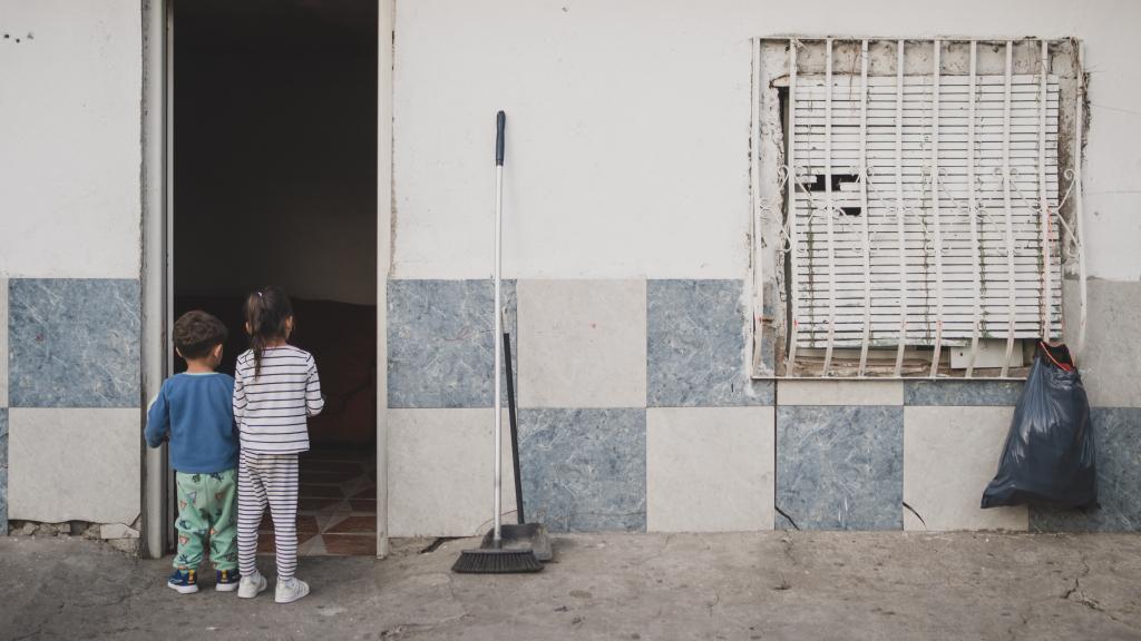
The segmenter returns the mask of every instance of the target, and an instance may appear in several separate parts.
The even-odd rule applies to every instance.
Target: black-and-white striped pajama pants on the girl
[[[297,569],[297,454],[256,454],[242,449],[237,462],[237,569],[257,571],[258,527],[269,505],[274,519],[277,578]]]

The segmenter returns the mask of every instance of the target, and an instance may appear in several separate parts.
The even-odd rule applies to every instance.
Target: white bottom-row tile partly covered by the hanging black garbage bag
[[[1012,407],[905,407],[904,529],[1010,529],[1029,527],[1026,506],[979,508],[998,469]]]

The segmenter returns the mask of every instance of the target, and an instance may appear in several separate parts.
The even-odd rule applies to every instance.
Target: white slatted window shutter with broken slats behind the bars
[[[971,78],[908,75],[901,91],[896,76],[795,80],[790,155],[800,187],[788,260],[798,347],[859,348],[868,317],[873,348],[898,344],[901,319],[908,346],[933,344],[940,333],[945,346],[968,344],[976,318],[981,339],[1011,330],[1036,339],[1047,323],[1052,338],[1060,334],[1058,229],[1042,238],[1043,204],[1053,211],[1059,197],[1058,79],[1045,79],[1042,129],[1039,74],[1012,74],[1009,102],[1006,75],[973,76],[973,94]]]

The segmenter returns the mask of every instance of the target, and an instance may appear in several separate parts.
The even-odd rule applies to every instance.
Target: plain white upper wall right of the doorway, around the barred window
[[[1141,3],[418,0],[397,6],[399,278],[744,277],[755,35],[1074,35],[1092,72],[1090,274],[1141,279]]]

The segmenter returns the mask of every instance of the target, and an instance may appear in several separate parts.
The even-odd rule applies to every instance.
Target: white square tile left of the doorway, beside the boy
[[[130,408],[9,409],[9,519],[135,522],[141,421]]]

